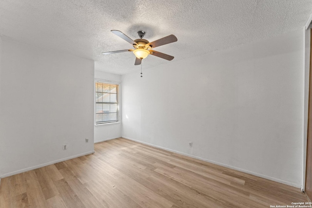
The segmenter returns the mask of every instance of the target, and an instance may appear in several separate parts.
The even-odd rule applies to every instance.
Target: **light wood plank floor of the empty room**
[[[1,208],[270,208],[299,189],[118,138],[95,153],[1,179]]]

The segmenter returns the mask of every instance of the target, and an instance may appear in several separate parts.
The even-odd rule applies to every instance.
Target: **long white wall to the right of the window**
[[[303,33],[122,76],[122,136],[302,186]]]

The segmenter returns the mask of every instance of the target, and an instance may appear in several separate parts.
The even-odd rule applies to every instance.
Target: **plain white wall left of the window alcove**
[[[3,37],[0,55],[0,177],[93,152],[94,61]]]

